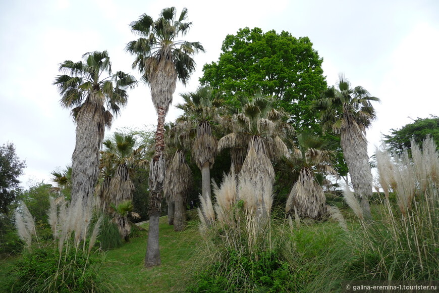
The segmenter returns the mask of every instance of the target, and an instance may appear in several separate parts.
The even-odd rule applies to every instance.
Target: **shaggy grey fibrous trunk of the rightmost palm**
[[[358,124],[353,121],[341,132],[343,154],[348,165],[355,195],[366,218],[370,218],[369,198],[372,196],[372,173],[367,155],[367,139]]]

